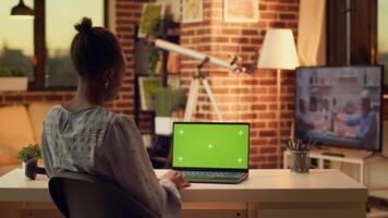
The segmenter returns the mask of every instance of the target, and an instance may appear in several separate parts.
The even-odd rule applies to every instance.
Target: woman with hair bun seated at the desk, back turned
[[[102,107],[114,99],[124,75],[119,40],[102,27],[92,27],[90,19],[84,17],[75,29],[78,33],[71,45],[80,77],[75,97],[53,107],[44,122],[41,145],[48,175],[73,171],[113,179],[158,215],[178,216],[178,190],[189,182],[175,171],[158,181],[135,124]]]

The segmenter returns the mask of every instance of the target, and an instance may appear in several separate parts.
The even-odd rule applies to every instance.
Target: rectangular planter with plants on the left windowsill
[[[0,90],[27,90],[27,83],[22,68],[0,66]]]

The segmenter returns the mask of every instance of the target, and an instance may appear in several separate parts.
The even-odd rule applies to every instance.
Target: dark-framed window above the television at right
[[[347,9],[350,9],[351,14],[350,37],[347,36]],[[328,64],[348,64],[347,45],[350,45],[350,64],[384,65],[386,94],[388,94],[387,11],[387,0],[327,0]]]

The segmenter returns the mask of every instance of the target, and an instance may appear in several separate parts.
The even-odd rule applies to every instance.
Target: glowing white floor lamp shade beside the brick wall
[[[299,66],[295,41],[288,28],[268,29],[258,58],[258,69],[294,70]]]

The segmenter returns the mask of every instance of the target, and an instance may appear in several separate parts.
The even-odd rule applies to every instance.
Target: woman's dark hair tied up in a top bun
[[[121,61],[121,46],[117,37],[104,27],[93,27],[83,17],[74,25],[78,32],[71,45],[71,58],[81,77],[94,78],[99,71]]]

